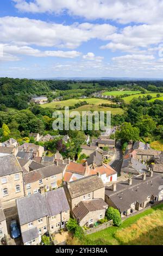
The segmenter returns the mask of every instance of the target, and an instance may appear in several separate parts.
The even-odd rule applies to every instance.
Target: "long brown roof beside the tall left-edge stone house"
[[[32,172],[24,174],[24,183],[29,184],[40,179],[45,179],[53,175],[62,173],[65,166],[46,166],[41,169],[33,170]]]

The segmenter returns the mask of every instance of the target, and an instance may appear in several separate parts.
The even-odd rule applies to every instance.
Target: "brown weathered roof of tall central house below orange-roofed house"
[[[97,175],[87,176],[67,183],[67,189],[70,192],[71,198],[82,196],[102,187],[104,187],[103,181]]]

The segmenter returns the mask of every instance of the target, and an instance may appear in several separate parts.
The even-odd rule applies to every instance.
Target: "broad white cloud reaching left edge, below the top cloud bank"
[[[116,31],[109,24],[73,23],[66,26],[58,23],[31,20],[19,17],[1,17],[1,42],[15,45],[37,45],[76,48],[90,39],[107,40]]]

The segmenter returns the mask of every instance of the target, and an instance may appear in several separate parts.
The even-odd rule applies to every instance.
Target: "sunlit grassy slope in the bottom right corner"
[[[162,245],[163,204],[123,221],[120,228],[109,227],[87,235],[85,245]]]

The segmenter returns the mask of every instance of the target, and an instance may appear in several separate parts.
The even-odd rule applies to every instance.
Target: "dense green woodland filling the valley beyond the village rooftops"
[[[27,79],[0,78],[0,136],[1,141],[13,137],[18,142],[34,142],[29,139],[30,132],[38,132],[41,135],[50,133],[59,135],[53,131],[53,109],[42,108],[38,105],[29,105],[33,96],[47,95],[49,102],[55,97],[63,100],[73,97],[89,96],[99,90],[117,90],[127,88],[132,90],[151,90],[163,92],[161,81],[98,81],[99,87],[89,89],[72,89],[71,84],[76,81],[36,81]],[[80,82],[90,83],[90,81]],[[94,84],[95,82],[92,81]],[[96,82],[97,83],[97,82]],[[152,84],[152,85],[151,85]],[[118,99],[119,100],[119,99]],[[123,145],[130,141],[141,139],[143,142],[163,138],[163,101],[155,100],[148,102],[149,97],[133,99],[129,105],[122,102],[124,114],[112,115],[112,126],[121,126],[116,132],[116,139],[121,139]],[[14,109],[12,109],[14,108]],[[89,109],[88,109],[89,110]],[[45,143],[45,147],[55,153],[59,150],[65,157],[77,157],[80,153],[80,145],[85,142],[85,135],[98,137],[100,131],[62,131],[60,135],[68,135],[72,138],[70,143],[65,144],[59,137],[54,141]]]

